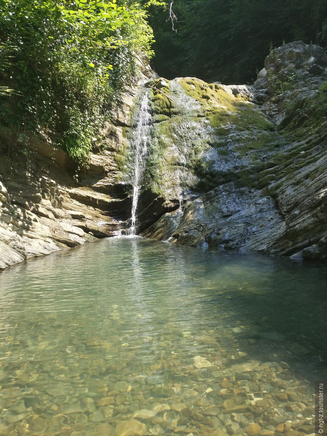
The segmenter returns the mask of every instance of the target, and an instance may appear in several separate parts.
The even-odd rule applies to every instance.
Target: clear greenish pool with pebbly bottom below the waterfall
[[[327,271],[112,238],[0,274],[0,435],[314,432]]]

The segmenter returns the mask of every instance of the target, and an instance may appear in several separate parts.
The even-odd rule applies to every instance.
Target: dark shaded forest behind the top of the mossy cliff
[[[301,40],[327,46],[325,0],[174,0],[167,13],[152,11],[158,74],[195,76],[225,84],[249,83],[274,47]]]

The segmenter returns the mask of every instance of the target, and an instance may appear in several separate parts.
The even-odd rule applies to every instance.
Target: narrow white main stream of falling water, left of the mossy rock
[[[134,168],[132,175],[133,196],[131,227],[129,230],[130,235],[135,235],[136,233],[136,212],[145,169],[145,157],[151,139],[151,126],[152,116],[150,114],[148,90],[146,90],[141,100],[136,123],[135,138],[132,141],[132,147],[134,150]]]

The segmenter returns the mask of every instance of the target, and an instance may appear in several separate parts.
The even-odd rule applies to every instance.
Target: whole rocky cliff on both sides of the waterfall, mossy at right
[[[155,80],[147,69],[84,172],[49,141],[1,129],[0,269],[127,232],[144,92],[143,236],[327,259],[326,67],[321,48],[296,42],[272,51],[252,86]]]

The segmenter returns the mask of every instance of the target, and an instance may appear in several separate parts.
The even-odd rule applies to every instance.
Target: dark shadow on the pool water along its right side
[[[234,262],[243,265],[236,274],[238,284],[224,290],[212,286],[203,289],[203,294],[210,314],[218,315],[219,307],[228,302],[225,323],[230,326],[234,347],[245,351],[247,358],[283,362],[292,373],[311,383],[324,378],[325,268],[260,255],[230,258],[231,263],[220,274],[228,275],[235,268]]]

